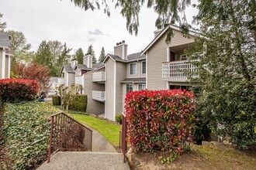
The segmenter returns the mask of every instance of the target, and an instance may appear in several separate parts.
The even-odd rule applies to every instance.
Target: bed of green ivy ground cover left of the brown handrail
[[[5,104],[1,128],[5,169],[35,169],[47,160],[50,115],[58,111],[43,102]]]

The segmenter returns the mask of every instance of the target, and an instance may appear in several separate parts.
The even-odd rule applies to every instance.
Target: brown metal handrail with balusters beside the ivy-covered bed
[[[92,130],[63,112],[51,115],[47,162],[57,151],[92,151]]]

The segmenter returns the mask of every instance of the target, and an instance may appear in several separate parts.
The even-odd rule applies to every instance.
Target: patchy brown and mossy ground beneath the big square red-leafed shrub
[[[161,164],[159,157],[168,156],[168,152],[135,153],[130,155],[133,170],[140,169],[255,169],[256,150],[241,151],[233,145],[206,142],[194,145],[192,151],[183,153],[170,164]]]

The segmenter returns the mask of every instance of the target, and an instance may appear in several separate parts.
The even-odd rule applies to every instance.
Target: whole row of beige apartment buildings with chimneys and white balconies
[[[174,36],[166,43],[168,29]],[[82,93],[88,95],[87,111],[104,114],[115,121],[116,114],[124,111],[126,93],[133,90],[188,89],[187,71],[195,71],[195,66],[188,63],[185,49],[195,42],[195,32],[189,37],[183,36],[178,26],[170,25],[154,32],[154,39],[141,53],[127,55],[125,41],[117,42],[114,54],[108,54],[103,63],[92,65],[92,56],[85,56],[83,65],[71,63],[64,66],[72,81],[67,85],[81,84]],[[71,75],[73,74],[73,75]]]

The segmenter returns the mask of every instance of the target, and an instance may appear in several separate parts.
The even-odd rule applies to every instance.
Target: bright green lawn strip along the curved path
[[[99,118],[84,115],[84,114],[72,114],[76,120],[82,124],[87,124],[96,131],[99,131],[112,145],[119,145],[119,131],[121,126],[116,124],[110,124],[106,121],[102,121]]]

